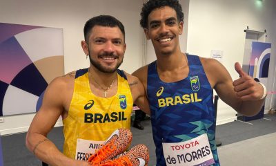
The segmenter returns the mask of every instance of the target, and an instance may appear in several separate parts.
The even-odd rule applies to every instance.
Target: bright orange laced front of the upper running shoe
[[[107,145],[104,145],[101,149],[97,149],[95,154],[90,156],[88,162],[92,162],[94,164],[101,163],[102,160],[106,160],[106,158],[112,154],[113,149],[116,149],[114,140],[108,142]]]

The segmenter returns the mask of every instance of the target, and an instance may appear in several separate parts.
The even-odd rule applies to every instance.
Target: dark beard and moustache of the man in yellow
[[[102,66],[101,64],[95,62],[94,59],[92,59],[90,57],[90,50],[88,49],[89,51],[89,61],[90,63],[95,66],[95,68],[97,68],[99,71],[103,72],[103,73],[114,73],[115,71],[117,71],[117,69],[119,68],[119,66],[121,66],[121,63],[123,63],[123,59],[121,59],[121,62],[118,62],[117,65],[115,66],[115,68],[108,68],[108,67],[105,67],[105,66]],[[108,53],[104,53],[102,55],[99,55],[99,56],[110,56],[110,57],[114,57],[115,55],[113,54],[108,54]]]

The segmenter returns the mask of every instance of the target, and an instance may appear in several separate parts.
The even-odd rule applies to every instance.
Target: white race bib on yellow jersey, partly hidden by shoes
[[[103,145],[104,141],[83,140],[77,139],[76,160],[88,160],[88,158],[95,154],[96,149]]]

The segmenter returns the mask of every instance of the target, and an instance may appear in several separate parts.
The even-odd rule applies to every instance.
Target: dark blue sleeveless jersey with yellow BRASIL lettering
[[[203,133],[207,133],[215,165],[219,165],[213,89],[199,57],[187,55],[187,58],[188,77],[178,82],[161,81],[156,61],[148,65],[147,93],[157,166],[166,165],[162,142],[184,142]]]

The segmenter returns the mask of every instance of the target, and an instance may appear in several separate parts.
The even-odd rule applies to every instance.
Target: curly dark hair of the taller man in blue
[[[162,8],[165,6],[169,6],[170,8],[173,8],[175,12],[177,12],[177,20],[179,22],[184,20],[184,13],[182,12],[182,7],[178,0],[148,0],[146,3],[144,3],[140,13],[141,27],[148,27],[148,15],[150,15],[150,12],[152,12],[152,10],[155,10],[156,8]]]

